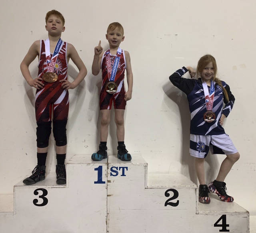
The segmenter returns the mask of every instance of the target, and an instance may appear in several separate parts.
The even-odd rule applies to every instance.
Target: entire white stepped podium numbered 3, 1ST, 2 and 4
[[[56,174],[0,195],[2,233],[249,233],[249,213],[236,203],[198,203],[198,187],[182,174],[148,174],[139,155],[68,161],[67,185]],[[14,201],[12,201],[14,200]],[[14,207],[12,208],[12,204]]]

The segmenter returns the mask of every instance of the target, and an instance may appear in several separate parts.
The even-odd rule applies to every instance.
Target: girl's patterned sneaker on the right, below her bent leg
[[[222,201],[226,201],[226,202],[234,201],[234,197],[231,197],[226,193],[227,188],[226,188],[225,182],[214,180],[213,182],[208,184],[208,187],[210,191],[213,192],[214,194],[217,194]]]

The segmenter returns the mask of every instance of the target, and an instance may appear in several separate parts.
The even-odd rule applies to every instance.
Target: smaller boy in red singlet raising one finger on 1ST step
[[[128,51],[120,49],[124,40],[124,28],[114,22],[108,26],[106,39],[109,49],[103,53],[99,45],[94,48],[92,74],[98,75],[102,69],[102,86],[100,91],[100,146],[98,152],[92,154],[92,160],[107,158],[108,124],[112,103],[115,108],[116,134],[118,139],[118,158],[123,161],[132,159],[124,144],[124,110],[126,101],[132,98],[132,67]],[[128,91],[124,90],[124,71],[126,69]]]

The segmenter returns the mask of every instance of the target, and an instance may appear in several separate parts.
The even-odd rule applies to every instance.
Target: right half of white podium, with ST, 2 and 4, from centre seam
[[[249,232],[248,211],[211,198],[198,205],[196,184],[182,174],[147,174],[140,156],[108,158],[108,233]]]

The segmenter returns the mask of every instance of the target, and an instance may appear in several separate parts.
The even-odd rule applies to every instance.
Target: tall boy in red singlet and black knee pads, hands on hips
[[[53,134],[56,141],[57,184],[66,184],[66,123],[68,120],[68,89],[74,89],[86,76],[87,70],[76,49],[60,39],[64,32],[64,17],[56,10],[46,14],[48,39],[35,41],[20,64],[22,75],[31,87],[36,88],[36,136],[38,164],[24,184],[35,184],[45,178],[48,141],[51,134],[53,111]],[[28,66],[38,57],[38,77],[33,79]],[[68,61],[72,59],[79,69],[76,79],[68,81]]]

